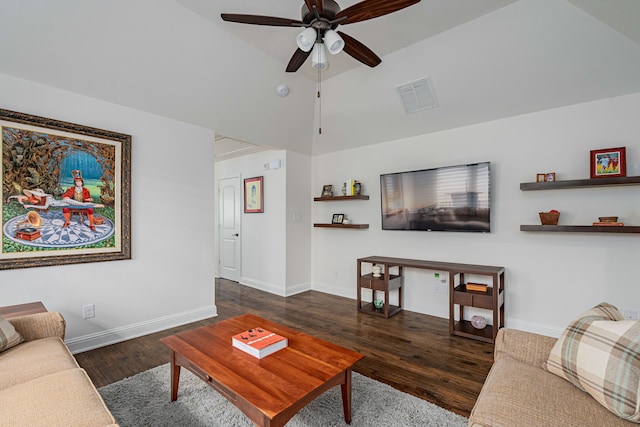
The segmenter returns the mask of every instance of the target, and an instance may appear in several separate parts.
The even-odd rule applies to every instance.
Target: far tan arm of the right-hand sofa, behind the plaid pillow
[[[510,357],[532,366],[542,366],[549,357],[556,338],[502,328],[498,331],[494,350],[494,359]]]

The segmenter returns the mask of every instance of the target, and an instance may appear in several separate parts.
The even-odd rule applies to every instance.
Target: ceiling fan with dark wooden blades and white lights
[[[305,28],[296,38],[298,49],[289,60],[287,72],[297,71],[309,55],[312,55],[313,67],[322,71],[328,66],[325,49],[331,54],[344,50],[348,55],[369,67],[380,64],[382,59],[371,49],[335,29],[339,25],[377,18],[419,2],[420,0],[363,0],[341,10],[338,3],[333,0],[304,0],[301,20],[234,13],[222,13],[220,16],[224,21],[241,24]]]

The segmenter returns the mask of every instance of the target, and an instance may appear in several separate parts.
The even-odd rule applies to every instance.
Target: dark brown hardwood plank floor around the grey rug
[[[355,300],[317,291],[288,298],[216,281],[218,317],[75,355],[102,387],[169,362],[159,339],[253,313],[365,355],[354,370],[468,417],[493,363],[493,345],[449,335],[447,319],[401,311],[358,313]]]

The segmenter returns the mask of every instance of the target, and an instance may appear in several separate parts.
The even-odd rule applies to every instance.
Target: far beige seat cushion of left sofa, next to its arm
[[[46,374],[74,368],[78,368],[78,363],[62,339],[27,341],[0,353],[0,390]]]

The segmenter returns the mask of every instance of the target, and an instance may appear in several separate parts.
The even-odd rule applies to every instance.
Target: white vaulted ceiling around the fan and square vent
[[[0,73],[214,129],[226,151],[313,154],[640,91],[640,1],[422,0],[340,27],[382,64],[330,56],[320,115],[310,65],[284,71],[299,29],[219,18],[302,4],[0,0]],[[394,87],[427,76],[439,107],[406,115]]]

